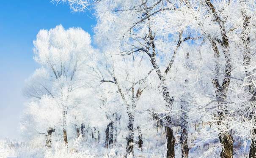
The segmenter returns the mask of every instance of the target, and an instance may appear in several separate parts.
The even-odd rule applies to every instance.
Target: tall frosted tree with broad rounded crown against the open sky
[[[91,37],[80,28],[40,30],[34,41],[34,59],[41,65],[28,80],[25,94],[41,99],[43,94],[58,99],[62,107],[63,139],[67,144],[67,115],[74,108],[79,90],[88,82],[82,74],[93,63]]]

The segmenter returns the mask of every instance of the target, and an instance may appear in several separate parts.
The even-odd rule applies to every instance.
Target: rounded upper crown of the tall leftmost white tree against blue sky
[[[42,29],[34,41],[34,59],[52,70],[54,77],[69,76],[82,64],[85,54],[91,54],[91,36],[81,28],[65,30],[61,25]]]

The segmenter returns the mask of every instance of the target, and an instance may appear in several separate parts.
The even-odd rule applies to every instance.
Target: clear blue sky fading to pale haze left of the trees
[[[81,27],[93,35],[89,11],[72,13],[66,4],[50,0],[0,0],[0,139],[19,138],[19,118],[26,99],[24,81],[39,67],[33,60],[33,40],[40,29]]]

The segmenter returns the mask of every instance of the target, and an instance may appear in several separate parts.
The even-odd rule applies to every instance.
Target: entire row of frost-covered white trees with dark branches
[[[207,123],[201,131],[218,137],[221,158],[233,157],[237,139],[249,140],[256,158],[254,0],[54,0],[62,1],[94,9],[99,48],[79,28],[39,32],[41,68],[24,91],[34,98],[22,123],[27,135],[45,134],[51,147],[57,130],[66,145],[68,128],[98,140],[104,131],[109,147],[128,129],[126,155],[134,155],[135,132],[142,150],[141,129],[160,123],[167,158],[175,157],[175,127],[187,158],[191,129]]]

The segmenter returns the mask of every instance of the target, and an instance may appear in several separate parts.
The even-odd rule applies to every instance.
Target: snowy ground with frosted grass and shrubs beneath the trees
[[[200,131],[193,131],[191,134],[188,144],[189,157],[219,158],[221,146],[218,139],[204,139],[199,135]],[[91,140],[83,141],[81,138],[73,142],[69,141],[68,148],[55,142],[54,147],[46,149],[44,138],[26,143],[6,139],[0,142],[0,158],[123,158],[126,142],[125,139],[120,140],[122,141],[108,149],[104,147],[104,141],[98,143]],[[135,145],[135,158],[165,158],[165,145],[164,130],[159,130],[157,133],[155,130],[149,130],[143,137],[143,151],[138,150],[138,146]],[[248,143],[238,139],[234,141],[234,158],[248,158],[248,150]],[[176,158],[181,157],[179,151],[181,151],[179,134],[176,134]]]

